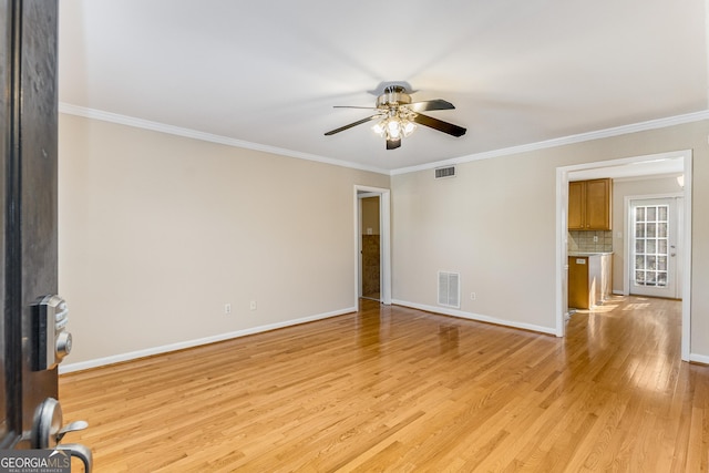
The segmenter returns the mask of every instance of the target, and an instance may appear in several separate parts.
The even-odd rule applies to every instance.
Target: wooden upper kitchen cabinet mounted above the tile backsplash
[[[568,183],[568,229],[609,230],[613,179]]]

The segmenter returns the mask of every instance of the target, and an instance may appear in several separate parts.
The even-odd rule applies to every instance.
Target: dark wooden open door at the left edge
[[[32,369],[31,306],[56,292],[54,0],[0,0],[0,448],[29,448],[34,412],[58,398],[56,368]]]

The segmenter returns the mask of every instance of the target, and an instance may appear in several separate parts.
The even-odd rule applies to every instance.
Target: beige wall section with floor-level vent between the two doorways
[[[556,175],[540,161],[476,161],[448,179],[433,169],[393,176],[393,298],[436,307],[438,271],[460,273],[462,312],[553,329]]]

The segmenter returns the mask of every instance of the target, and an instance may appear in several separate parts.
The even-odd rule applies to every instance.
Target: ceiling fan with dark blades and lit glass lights
[[[421,113],[433,110],[455,109],[452,103],[441,99],[424,102],[411,102],[410,93],[402,85],[387,85],[383,93],[377,97],[377,105],[373,107],[347,105],[335,107],[368,109],[376,110],[377,112],[367,119],[329,131],[325,134],[326,136],[343,132],[345,130],[361,125],[362,123],[378,121],[372,130],[380,136],[387,138],[387,150],[395,150],[400,147],[402,136],[409,136],[413,130],[415,130],[417,124],[428,126],[453,136],[463,136],[466,131],[462,126],[443,122]]]

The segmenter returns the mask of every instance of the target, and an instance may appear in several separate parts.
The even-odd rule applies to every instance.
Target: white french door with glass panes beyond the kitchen
[[[678,299],[681,197],[630,200],[630,294]]]

